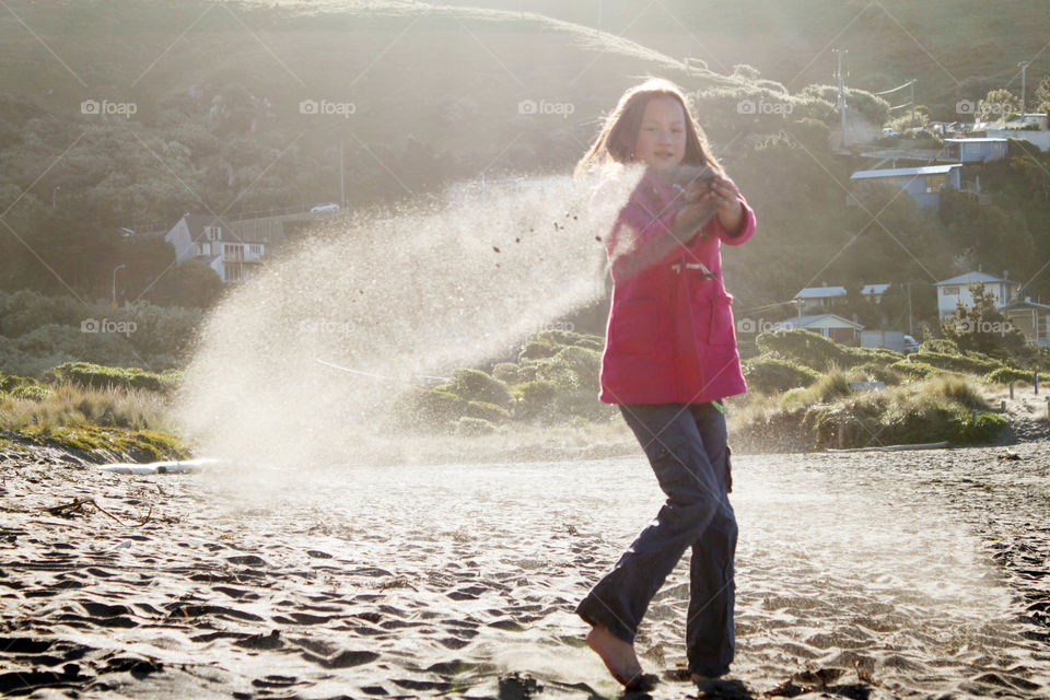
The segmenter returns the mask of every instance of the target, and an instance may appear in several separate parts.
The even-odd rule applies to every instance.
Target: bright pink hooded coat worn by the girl
[[[663,246],[669,252],[630,270],[646,243],[668,241],[678,207],[667,205],[675,197],[668,184],[646,174],[606,238],[614,284],[598,395],[606,404],[702,404],[747,390],[720,247],[750,238],[755,212],[740,197],[745,221],[736,235],[714,215],[690,245],[670,238]],[[629,253],[614,258],[625,236]]]

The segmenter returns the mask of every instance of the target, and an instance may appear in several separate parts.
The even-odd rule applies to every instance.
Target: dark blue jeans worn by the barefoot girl
[[[735,645],[737,533],[727,495],[733,480],[725,416],[710,402],[634,404],[620,410],[667,501],[612,571],[576,606],[576,615],[633,644],[650,600],[691,547],[686,622],[689,669],[721,676],[730,669]]]

